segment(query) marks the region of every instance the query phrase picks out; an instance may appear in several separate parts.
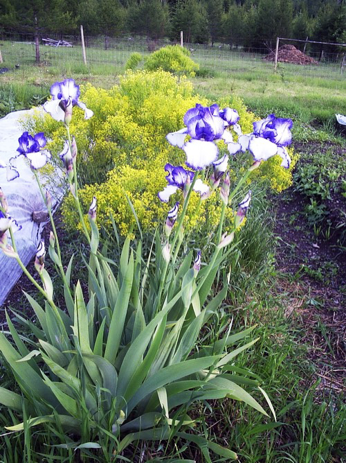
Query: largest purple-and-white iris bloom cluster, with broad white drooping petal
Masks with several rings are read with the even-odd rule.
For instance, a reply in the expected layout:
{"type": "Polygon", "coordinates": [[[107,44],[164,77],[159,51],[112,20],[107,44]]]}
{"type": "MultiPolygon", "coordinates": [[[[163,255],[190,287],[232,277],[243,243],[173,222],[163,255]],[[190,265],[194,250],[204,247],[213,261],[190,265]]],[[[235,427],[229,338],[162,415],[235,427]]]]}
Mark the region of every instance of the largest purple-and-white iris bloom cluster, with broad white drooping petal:
{"type": "MultiPolygon", "coordinates": [[[[225,130],[235,124],[239,115],[235,110],[224,108],[220,112],[218,105],[202,106],[197,103],[185,113],[185,128],[167,134],[167,141],[185,151],[186,165],[201,170],[216,161],[219,150],[215,140],[223,139],[227,145],[233,143],[232,134],[225,130]],[[191,139],[185,142],[186,135],[191,139]]],[[[238,147],[239,150],[239,147],[238,147]]]]}

